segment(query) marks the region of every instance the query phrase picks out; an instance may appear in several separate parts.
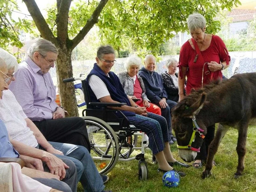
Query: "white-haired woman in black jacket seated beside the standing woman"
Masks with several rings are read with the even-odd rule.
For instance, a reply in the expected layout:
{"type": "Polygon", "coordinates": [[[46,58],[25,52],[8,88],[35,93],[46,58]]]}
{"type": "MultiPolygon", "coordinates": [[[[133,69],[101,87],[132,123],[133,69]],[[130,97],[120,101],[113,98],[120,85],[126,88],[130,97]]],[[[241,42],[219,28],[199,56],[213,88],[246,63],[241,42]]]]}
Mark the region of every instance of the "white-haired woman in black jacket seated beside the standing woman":
{"type": "MultiPolygon", "coordinates": [[[[179,101],[178,73],[176,73],[178,61],[175,57],[171,57],[165,61],[167,71],[161,74],[163,79],[163,87],[165,88],[168,99],[179,101]]],[[[185,83],[186,84],[186,83],[185,83]]],[[[184,85],[186,87],[186,85],[184,85]]],[[[185,94],[185,89],[184,89],[185,94]]]]}

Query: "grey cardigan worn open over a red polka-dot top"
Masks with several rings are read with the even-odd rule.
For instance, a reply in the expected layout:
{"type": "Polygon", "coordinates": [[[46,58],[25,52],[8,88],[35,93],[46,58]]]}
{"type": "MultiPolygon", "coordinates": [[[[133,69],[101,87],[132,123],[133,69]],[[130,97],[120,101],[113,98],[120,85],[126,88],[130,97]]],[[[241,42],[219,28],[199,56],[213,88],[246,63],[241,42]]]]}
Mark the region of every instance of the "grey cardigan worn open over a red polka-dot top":
{"type": "MultiPolygon", "coordinates": [[[[123,85],[125,94],[129,96],[133,96],[133,79],[128,75],[126,71],[118,73],[117,76],[119,77],[120,82],[123,85]]],[[[146,95],[146,88],[143,83],[143,80],[139,75],[137,75],[137,77],[140,82],[140,86],[142,88],[141,98],[142,100],[148,100],[148,97],[146,95]]]]}

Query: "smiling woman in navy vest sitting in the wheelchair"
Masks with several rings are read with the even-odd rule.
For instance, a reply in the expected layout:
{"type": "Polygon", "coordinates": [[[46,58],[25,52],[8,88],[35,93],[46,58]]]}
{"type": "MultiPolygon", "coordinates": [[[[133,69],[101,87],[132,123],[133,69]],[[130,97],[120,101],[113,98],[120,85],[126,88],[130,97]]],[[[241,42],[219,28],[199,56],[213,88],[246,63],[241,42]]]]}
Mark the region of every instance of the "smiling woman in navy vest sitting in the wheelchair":
{"type": "MultiPolygon", "coordinates": [[[[179,162],[171,154],[167,123],[164,117],[147,112],[145,107],[137,106],[129,99],[119,78],[111,68],[115,63],[115,51],[107,46],[100,46],[97,50],[96,63],[87,76],[89,95],[92,102],[126,103],[122,107],[112,107],[121,110],[130,124],[135,125],[149,137],[149,148],[156,157],[158,171],[173,170],[173,165],[179,162]]],[[[185,173],[177,171],[180,176],[185,173]]]]}

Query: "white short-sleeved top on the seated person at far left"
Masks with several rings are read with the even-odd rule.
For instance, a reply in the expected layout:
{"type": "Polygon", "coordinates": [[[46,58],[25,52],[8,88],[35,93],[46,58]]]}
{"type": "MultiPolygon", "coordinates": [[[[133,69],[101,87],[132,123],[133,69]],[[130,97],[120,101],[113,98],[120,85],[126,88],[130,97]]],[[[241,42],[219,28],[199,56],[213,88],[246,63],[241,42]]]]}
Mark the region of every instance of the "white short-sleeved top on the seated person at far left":
{"type": "Polygon", "coordinates": [[[10,137],[30,147],[37,147],[38,143],[33,131],[27,127],[27,116],[10,90],[4,90],[0,99],[0,119],[4,122],[10,137]]]}

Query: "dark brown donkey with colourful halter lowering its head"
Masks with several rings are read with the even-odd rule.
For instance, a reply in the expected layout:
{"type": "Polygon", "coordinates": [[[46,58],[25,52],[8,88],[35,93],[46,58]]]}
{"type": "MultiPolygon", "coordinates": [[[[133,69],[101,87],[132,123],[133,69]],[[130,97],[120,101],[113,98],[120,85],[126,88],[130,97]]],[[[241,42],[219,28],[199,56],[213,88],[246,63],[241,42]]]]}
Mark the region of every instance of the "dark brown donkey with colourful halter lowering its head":
{"type": "Polygon", "coordinates": [[[195,159],[207,134],[206,127],[219,123],[208,147],[202,178],[211,175],[214,155],[230,127],[238,129],[238,166],[234,178],[242,175],[247,129],[249,123],[255,123],[253,118],[256,117],[255,83],[256,73],[236,74],[223,82],[216,81],[193,90],[172,109],[172,128],[177,138],[179,156],[186,162],[195,159]]]}

